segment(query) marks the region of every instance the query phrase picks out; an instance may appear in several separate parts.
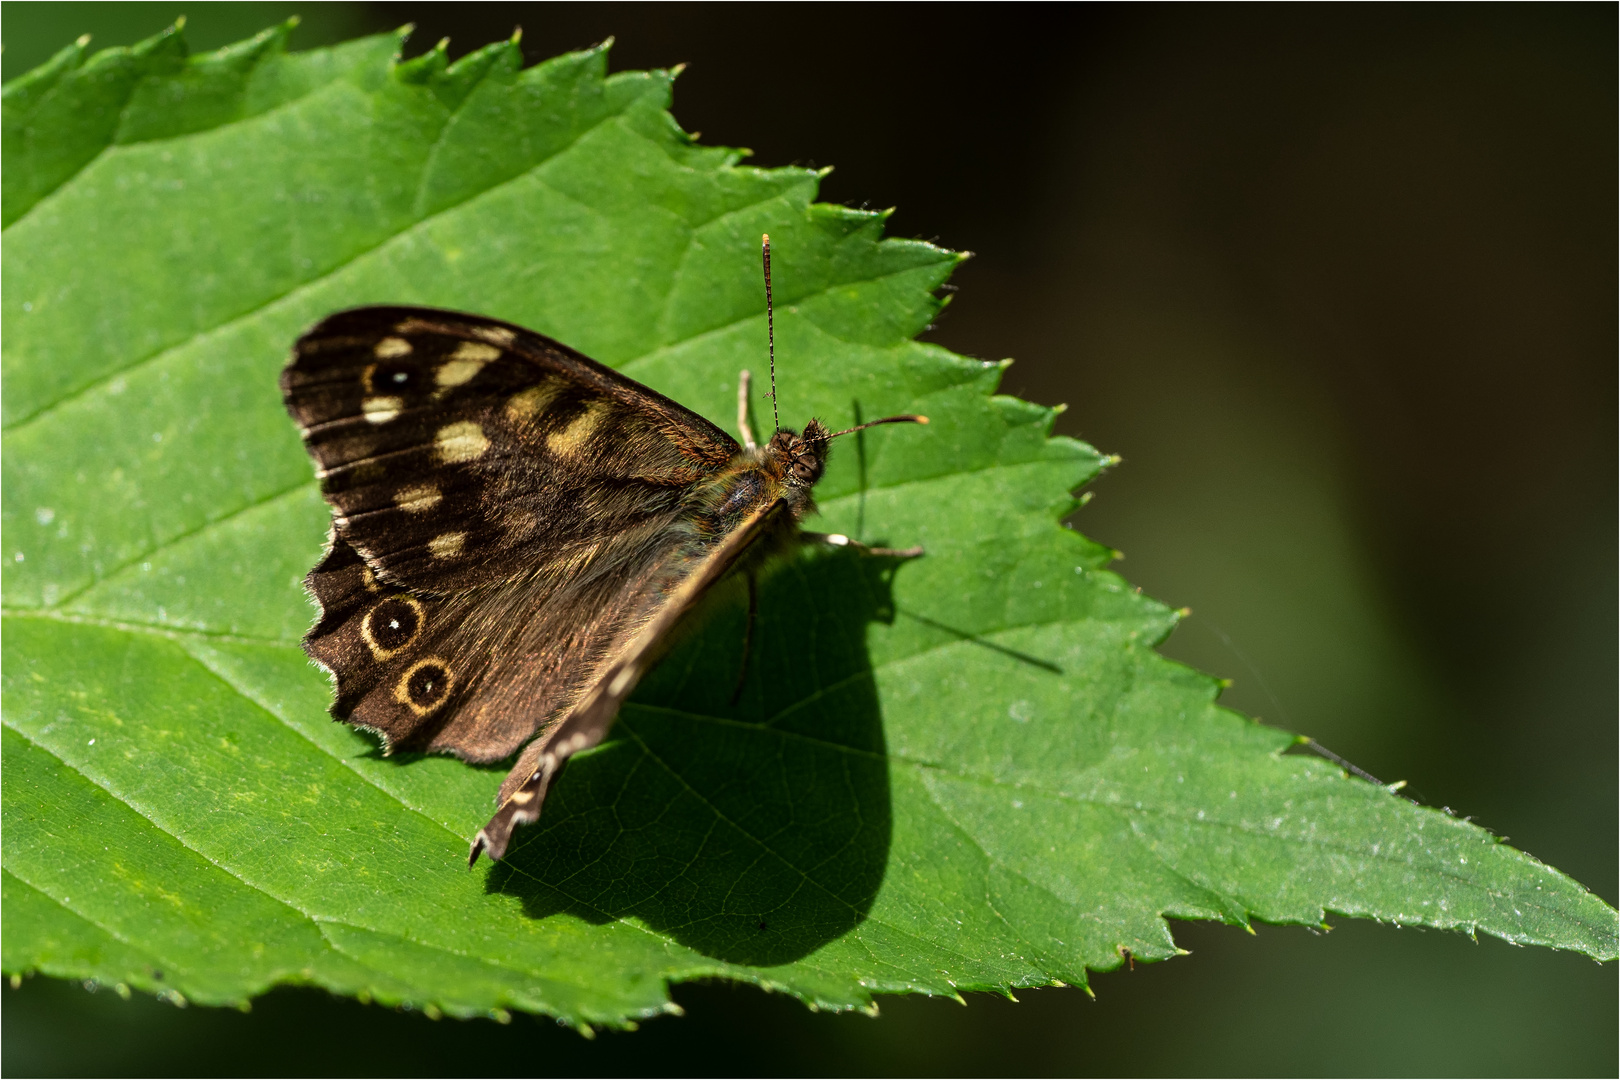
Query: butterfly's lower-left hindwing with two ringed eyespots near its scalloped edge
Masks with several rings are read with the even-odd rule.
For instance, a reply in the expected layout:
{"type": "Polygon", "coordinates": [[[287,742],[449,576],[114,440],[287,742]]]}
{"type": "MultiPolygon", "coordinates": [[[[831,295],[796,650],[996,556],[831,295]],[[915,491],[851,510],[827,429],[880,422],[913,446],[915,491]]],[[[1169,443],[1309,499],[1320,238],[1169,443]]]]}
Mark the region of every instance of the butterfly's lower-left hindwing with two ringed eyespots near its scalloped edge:
{"type": "Polygon", "coordinates": [[[309,575],[322,615],[305,649],[337,678],[334,716],[389,753],[499,761],[599,682],[698,562],[688,533],[648,531],[564,572],[433,596],[382,585],[337,539],[309,575]]]}

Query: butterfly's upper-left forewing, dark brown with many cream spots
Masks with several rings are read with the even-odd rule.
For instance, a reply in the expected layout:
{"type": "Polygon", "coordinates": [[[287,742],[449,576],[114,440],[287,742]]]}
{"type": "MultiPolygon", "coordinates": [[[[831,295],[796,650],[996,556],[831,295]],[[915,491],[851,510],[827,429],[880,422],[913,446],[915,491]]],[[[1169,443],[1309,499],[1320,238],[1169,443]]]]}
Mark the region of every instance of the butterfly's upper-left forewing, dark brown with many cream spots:
{"type": "Polygon", "coordinates": [[[356,308],[282,374],[339,539],[379,581],[454,593],[667,520],[739,445],[669,398],[494,319],[356,308]]]}

